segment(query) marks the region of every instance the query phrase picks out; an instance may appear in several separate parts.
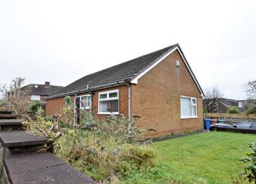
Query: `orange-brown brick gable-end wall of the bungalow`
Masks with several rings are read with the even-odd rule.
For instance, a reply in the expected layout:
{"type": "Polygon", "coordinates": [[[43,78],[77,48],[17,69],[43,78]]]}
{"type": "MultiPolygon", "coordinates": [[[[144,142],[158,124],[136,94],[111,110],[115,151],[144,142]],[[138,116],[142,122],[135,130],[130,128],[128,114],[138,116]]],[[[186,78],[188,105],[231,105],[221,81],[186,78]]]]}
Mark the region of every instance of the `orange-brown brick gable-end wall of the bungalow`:
{"type": "Polygon", "coordinates": [[[178,51],[132,84],[132,115],[140,128],[156,130],[146,136],[202,130],[202,97],[178,51]],[[197,97],[198,118],[181,119],[180,95],[197,97]]]}

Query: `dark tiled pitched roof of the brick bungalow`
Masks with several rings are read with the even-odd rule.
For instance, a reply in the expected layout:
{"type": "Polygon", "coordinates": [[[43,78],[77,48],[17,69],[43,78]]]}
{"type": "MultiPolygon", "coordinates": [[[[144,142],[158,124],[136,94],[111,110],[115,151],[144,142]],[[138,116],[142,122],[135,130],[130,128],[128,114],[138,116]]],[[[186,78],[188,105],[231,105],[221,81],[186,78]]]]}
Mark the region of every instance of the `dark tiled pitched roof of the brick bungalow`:
{"type": "MultiPolygon", "coordinates": [[[[153,53],[148,53],[144,56],[140,56],[130,61],[112,66],[108,69],[103,69],[93,74],[89,74],[67,85],[67,87],[60,89],[58,92],[49,96],[47,99],[72,95],[77,92],[86,92],[88,85],[90,90],[95,90],[101,89],[103,87],[111,87],[126,84],[127,82],[132,82],[133,79],[135,79],[137,76],[140,76],[140,74],[150,68],[150,66],[153,66],[154,63],[166,56],[167,53],[174,51],[175,48],[179,48],[179,44],[171,45],[153,53]]],[[[192,75],[194,76],[194,74],[192,75]]],[[[196,79],[195,82],[198,84],[196,79]]],[[[199,87],[200,92],[202,92],[199,84],[197,87],[199,87]]]]}

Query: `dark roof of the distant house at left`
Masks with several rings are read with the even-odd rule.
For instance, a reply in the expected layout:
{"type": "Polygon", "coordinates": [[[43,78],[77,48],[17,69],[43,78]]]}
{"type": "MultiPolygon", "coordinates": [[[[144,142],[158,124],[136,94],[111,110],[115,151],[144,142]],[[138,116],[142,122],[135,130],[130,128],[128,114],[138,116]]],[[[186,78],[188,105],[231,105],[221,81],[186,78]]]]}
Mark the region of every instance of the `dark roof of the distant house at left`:
{"type": "Polygon", "coordinates": [[[31,95],[51,95],[59,89],[62,89],[61,86],[54,86],[54,85],[45,85],[45,84],[28,84],[25,87],[22,87],[21,89],[31,89],[30,94],[31,95]]]}

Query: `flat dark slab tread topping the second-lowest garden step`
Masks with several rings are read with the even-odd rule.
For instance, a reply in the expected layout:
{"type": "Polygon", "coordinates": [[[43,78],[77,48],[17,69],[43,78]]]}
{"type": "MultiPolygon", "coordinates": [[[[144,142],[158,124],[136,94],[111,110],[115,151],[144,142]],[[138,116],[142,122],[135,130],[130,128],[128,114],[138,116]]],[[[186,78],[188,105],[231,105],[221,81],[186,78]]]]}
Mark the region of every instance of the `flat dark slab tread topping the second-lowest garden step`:
{"type": "Polygon", "coordinates": [[[1,142],[5,147],[33,146],[45,144],[47,139],[43,136],[34,136],[26,131],[1,131],[1,142]]]}

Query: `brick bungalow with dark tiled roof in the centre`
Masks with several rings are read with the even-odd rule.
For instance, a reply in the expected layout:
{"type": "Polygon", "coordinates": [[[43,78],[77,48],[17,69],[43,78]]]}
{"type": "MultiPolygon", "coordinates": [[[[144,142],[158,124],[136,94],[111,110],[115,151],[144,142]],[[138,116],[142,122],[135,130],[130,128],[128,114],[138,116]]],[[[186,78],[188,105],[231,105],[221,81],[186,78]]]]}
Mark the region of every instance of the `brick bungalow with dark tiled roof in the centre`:
{"type": "Polygon", "coordinates": [[[46,114],[59,113],[67,95],[99,118],[139,116],[151,137],[203,128],[204,94],[179,44],[78,79],[46,98],[46,114]]]}

